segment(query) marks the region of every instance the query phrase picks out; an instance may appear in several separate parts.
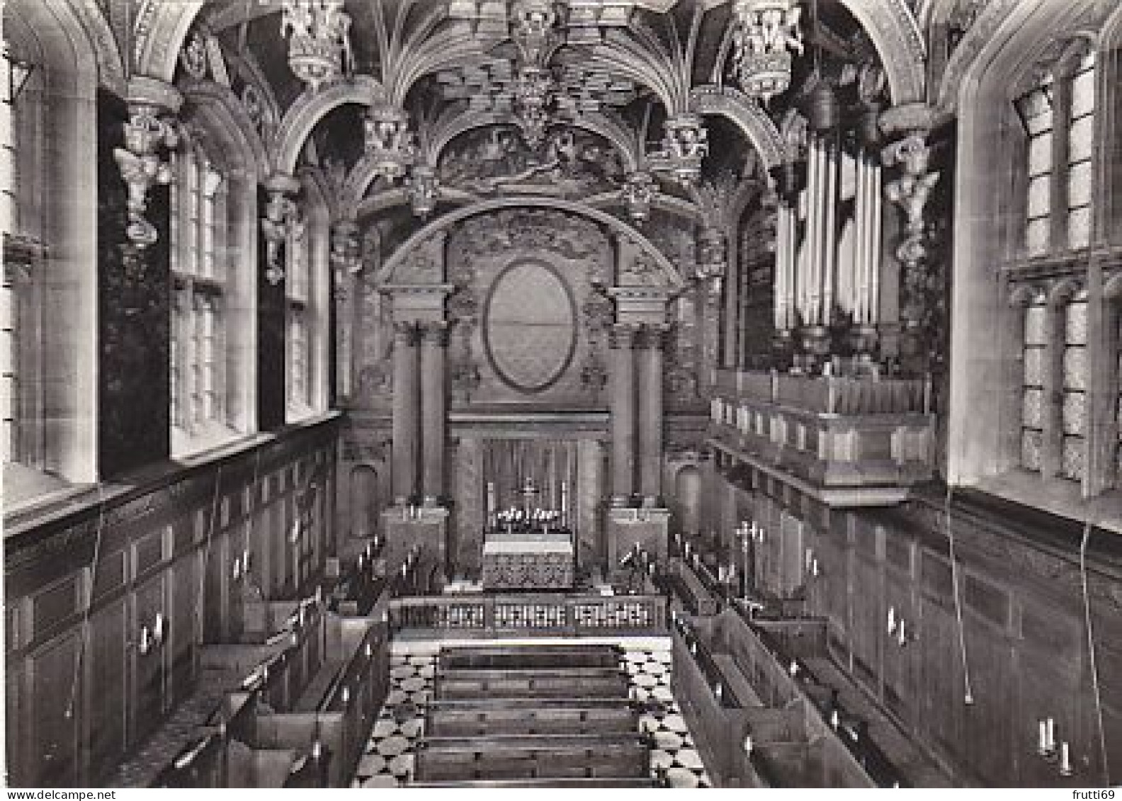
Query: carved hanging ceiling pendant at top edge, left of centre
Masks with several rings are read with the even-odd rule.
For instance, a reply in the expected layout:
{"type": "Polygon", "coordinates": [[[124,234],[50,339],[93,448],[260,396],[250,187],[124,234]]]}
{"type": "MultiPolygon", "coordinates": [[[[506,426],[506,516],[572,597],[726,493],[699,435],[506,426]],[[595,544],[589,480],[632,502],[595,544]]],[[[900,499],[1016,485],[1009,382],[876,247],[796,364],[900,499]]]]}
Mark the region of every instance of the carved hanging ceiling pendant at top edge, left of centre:
{"type": "Polygon", "coordinates": [[[288,36],[288,66],[313,91],[338,79],[351,62],[350,16],[342,0],[283,0],[280,35],[288,36]]]}

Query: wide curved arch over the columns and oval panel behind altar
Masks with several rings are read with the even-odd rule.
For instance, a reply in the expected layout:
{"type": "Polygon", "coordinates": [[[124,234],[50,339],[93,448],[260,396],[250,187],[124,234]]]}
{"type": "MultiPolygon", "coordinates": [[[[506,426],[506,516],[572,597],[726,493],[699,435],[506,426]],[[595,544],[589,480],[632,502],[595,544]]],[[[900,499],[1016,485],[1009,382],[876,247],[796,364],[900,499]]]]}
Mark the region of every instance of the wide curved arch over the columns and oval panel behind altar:
{"type": "Polygon", "coordinates": [[[557,200],[552,197],[497,197],[495,200],[476,203],[463,209],[457,209],[444,217],[433,220],[427,225],[415,231],[394,251],[394,255],[386,260],[376,276],[378,284],[423,284],[429,279],[417,282],[411,279],[408,275],[410,257],[421,252],[424,246],[433,239],[443,237],[450,228],[471,217],[478,217],[491,211],[502,209],[552,209],[564,211],[571,214],[583,217],[592,222],[599,223],[613,233],[623,239],[634,242],[636,249],[657,269],[662,286],[670,289],[680,289],[686,285],[674,265],[668,259],[651,241],[636,229],[597,209],[589,209],[572,201],[557,200]]]}

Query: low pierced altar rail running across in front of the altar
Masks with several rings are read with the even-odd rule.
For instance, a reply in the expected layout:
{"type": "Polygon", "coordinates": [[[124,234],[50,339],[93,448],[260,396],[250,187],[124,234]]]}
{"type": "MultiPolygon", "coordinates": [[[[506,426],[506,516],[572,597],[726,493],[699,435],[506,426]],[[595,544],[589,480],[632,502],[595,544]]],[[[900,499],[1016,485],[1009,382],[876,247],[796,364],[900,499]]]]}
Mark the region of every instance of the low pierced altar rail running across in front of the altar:
{"type": "Polygon", "coordinates": [[[662,596],[472,595],[389,601],[394,630],[436,629],[465,636],[598,636],[666,628],[662,596]]]}

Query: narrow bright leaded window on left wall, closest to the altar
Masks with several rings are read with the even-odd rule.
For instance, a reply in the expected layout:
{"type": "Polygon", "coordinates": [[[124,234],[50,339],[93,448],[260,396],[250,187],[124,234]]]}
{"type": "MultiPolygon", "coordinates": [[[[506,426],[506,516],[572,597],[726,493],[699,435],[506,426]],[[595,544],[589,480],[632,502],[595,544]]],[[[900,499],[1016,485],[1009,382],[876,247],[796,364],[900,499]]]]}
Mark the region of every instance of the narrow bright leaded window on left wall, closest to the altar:
{"type": "Polygon", "coordinates": [[[292,227],[288,236],[288,269],[285,285],[287,323],[287,402],[289,416],[312,408],[311,248],[307,222],[292,227]]]}

